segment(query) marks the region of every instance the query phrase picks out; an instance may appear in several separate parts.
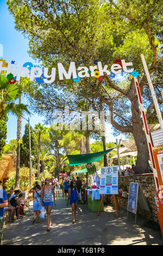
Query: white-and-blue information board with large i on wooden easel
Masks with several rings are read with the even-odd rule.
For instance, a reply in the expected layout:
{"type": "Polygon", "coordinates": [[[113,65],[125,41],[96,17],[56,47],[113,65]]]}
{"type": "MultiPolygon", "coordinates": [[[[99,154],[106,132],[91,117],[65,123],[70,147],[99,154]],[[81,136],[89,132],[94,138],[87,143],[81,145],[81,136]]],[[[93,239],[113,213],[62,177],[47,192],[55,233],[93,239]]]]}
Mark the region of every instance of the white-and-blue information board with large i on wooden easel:
{"type": "Polygon", "coordinates": [[[101,168],[100,194],[118,194],[118,166],[101,168]]]}

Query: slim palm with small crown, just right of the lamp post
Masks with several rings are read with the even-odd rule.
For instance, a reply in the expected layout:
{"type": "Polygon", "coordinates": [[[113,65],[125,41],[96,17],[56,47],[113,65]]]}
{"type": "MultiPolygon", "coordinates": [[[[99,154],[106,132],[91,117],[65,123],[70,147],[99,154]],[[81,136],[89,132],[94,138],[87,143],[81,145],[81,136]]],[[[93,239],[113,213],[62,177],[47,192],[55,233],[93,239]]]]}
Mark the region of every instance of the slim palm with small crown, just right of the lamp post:
{"type": "Polygon", "coordinates": [[[40,154],[41,154],[41,134],[43,132],[46,132],[47,129],[39,123],[39,124],[35,125],[34,130],[39,136],[39,143],[38,143],[39,153],[38,153],[38,156],[37,156],[37,179],[40,180],[40,166],[39,166],[39,164],[40,164],[40,154]]]}

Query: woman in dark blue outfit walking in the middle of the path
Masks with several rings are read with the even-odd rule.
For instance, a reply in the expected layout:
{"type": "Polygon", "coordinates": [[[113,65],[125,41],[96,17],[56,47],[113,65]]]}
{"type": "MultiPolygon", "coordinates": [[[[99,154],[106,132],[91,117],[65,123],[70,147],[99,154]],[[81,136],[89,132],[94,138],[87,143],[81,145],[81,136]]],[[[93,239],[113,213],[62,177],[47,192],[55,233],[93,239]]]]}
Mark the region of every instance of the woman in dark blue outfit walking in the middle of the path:
{"type": "Polygon", "coordinates": [[[78,207],[78,197],[80,198],[80,201],[82,202],[82,198],[79,195],[79,192],[76,188],[76,183],[74,181],[71,181],[70,188],[68,189],[68,199],[67,199],[67,206],[70,199],[70,205],[72,208],[72,223],[75,223],[77,221],[76,219],[76,211],[78,207]]]}

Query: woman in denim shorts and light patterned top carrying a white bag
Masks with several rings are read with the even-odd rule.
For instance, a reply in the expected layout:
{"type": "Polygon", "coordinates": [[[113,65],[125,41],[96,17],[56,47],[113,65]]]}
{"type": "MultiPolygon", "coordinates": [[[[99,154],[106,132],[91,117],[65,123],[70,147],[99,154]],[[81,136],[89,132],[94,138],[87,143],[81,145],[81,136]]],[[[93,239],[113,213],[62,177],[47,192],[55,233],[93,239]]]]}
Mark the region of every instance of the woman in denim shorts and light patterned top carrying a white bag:
{"type": "Polygon", "coordinates": [[[57,205],[55,202],[55,193],[54,186],[50,185],[50,179],[45,180],[45,186],[41,191],[41,205],[45,206],[47,212],[47,231],[51,230],[52,221],[51,221],[51,211],[53,205],[57,205]],[[53,197],[52,197],[53,196],[53,197]],[[54,203],[53,203],[54,199],[54,203]]]}

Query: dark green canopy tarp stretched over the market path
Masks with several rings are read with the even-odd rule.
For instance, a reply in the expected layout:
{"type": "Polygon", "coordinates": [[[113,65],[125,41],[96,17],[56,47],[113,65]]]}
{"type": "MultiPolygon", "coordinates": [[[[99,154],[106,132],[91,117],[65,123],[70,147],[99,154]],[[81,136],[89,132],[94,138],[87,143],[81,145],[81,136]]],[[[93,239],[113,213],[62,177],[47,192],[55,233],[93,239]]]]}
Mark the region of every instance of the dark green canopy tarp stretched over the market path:
{"type": "MultiPolygon", "coordinates": [[[[112,148],[114,149],[114,148],[112,148]]],[[[79,166],[79,164],[84,163],[93,163],[101,160],[104,155],[108,154],[112,149],[105,151],[92,153],[92,154],[83,154],[83,155],[67,155],[69,166],[79,166]]]]}

